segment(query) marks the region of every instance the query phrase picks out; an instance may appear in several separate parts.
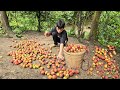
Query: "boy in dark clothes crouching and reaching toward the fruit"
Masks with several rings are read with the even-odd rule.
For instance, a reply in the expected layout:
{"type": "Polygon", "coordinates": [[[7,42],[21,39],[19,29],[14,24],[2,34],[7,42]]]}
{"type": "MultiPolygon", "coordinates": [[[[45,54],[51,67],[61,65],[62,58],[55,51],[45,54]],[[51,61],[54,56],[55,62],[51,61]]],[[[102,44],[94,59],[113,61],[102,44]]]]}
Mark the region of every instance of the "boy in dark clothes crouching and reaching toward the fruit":
{"type": "Polygon", "coordinates": [[[64,30],[65,22],[63,20],[59,20],[56,23],[56,27],[54,27],[50,32],[45,32],[45,36],[52,35],[54,44],[52,47],[60,46],[60,51],[58,53],[57,58],[64,59],[63,57],[63,47],[66,46],[68,37],[67,32],[64,30]]]}

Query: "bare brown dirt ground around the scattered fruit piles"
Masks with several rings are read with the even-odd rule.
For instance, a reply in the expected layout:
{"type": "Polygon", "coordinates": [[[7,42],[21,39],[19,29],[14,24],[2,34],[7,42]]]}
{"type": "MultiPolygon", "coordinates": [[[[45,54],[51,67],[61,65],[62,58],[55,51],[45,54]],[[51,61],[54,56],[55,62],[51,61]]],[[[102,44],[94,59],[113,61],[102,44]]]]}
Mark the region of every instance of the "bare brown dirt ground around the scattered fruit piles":
{"type": "MultiPolygon", "coordinates": [[[[38,32],[26,32],[23,34],[23,38],[28,38],[28,39],[35,39],[39,43],[45,43],[46,46],[48,47],[47,44],[52,44],[53,40],[52,37],[44,37],[43,33],[38,33],[38,32]]],[[[68,37],[69,41],[68,43],[79,43],[76,38],[68,37]]],[[[14,50],[13,47],[10,47],[11,45],[15,45],[16,42],[13,42],[13,40],[16,40],[19,42],[21,39],[20,38],[2,38],[0,37],[0,79],[47,79],[45,75],[41,75],[39,72],[39,69],[29,69],[29,68],[22,68],[19,65],[13,65],[10,63],[10,60],[12,59],[11,56],[7,56],[7,53],[9,51],[14,50]]],[[[91,42],[83,42],[83,44],[87,45],[90,49],[90,52],[88,55],[85,55],[85,62],[83,63],[83,68],[87,69],[88,61],[89,64],[91,65],[92,63],[92,56],[93,56],[93,50],[94,50],[94,45],[91,42]]],[[[57,54],[57,49],[53,48],[52,53],[57,54]]],[[[117,63],[120,65],[120,54],[117,53],[115,60],[117,63]]],[[[95,73],[93,73],[92,76],[87,75],[87,72],[80,69],[80,74],[79,75],[74,75],[73,77],[70,77],[70,79],[100,79],[99,76],[97,76],[95,73]]]]}

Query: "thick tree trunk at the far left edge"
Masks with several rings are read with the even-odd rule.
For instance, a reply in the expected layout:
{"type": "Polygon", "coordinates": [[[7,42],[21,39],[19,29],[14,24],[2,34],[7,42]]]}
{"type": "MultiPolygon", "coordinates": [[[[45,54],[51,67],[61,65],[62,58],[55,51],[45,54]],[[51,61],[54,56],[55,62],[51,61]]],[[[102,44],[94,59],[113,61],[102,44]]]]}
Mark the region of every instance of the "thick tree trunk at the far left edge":
{"type": "Polygon", "coordinates": [[[6,11],[0,11],[0,15],[1,15],[0,19],[1,19],[3,30],[5,31],[7,36],[12,37],[13,32],[11,31],[11,28],[9,26],[9,21],[8,21],[6,11]]]}

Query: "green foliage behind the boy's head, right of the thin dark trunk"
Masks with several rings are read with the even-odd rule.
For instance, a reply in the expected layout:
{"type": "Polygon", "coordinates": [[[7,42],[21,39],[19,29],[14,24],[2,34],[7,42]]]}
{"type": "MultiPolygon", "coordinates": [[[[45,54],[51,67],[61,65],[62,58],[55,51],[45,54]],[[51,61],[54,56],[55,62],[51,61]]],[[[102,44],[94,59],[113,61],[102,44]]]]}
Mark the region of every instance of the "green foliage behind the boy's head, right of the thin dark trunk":
{"type": "Polygon", "coordinates": [[[59,19],[63,19],[65,23],[73,22],[74,11],[50,11],[46,20],[41,22],[42,31],[49,31],[56,25],[59,19]]]}

